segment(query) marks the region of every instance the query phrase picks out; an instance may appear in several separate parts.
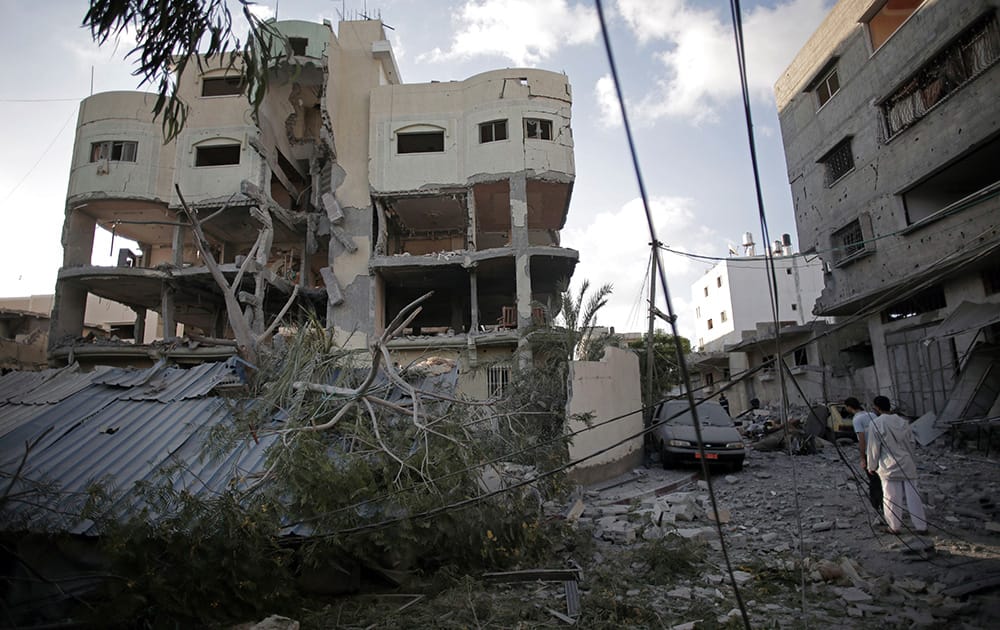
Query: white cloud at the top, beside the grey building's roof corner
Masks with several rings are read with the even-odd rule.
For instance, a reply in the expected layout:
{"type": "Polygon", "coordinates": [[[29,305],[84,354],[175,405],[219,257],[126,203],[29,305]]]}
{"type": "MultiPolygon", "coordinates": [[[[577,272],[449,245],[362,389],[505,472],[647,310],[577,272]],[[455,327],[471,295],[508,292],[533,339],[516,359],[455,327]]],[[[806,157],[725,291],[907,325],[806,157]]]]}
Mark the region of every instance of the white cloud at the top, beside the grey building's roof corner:
{"type": "MultiPolygon", "coordinates": [[[[771,100],[781,72],[828,11],[829,0],[779,0],[744,12],[747,84],[755,98],[771,100]]],[[[689,0],[619,0],[619,11],[642,43],[665,45],[654,53],[663,76],[638,104],[638,117],[684,116],[711,120],[715,107],[740,94],[731,19],[691,6],[689,0]]]]}

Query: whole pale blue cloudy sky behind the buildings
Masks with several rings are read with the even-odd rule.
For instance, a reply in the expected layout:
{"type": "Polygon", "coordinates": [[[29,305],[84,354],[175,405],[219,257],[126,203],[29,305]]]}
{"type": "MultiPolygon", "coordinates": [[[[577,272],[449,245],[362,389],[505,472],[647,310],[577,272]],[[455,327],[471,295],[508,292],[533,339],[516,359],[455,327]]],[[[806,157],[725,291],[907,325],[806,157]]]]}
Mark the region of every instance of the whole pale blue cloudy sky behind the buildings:
{"type": "MultiPolygon", "coordinates": [[[[261,14],[380,14],[404,82],[464,79],[502,67],[565,72],[573,86],[576,183],[562,243],[580,251],[574,285],[612,282],[601,324],[644,330],[649,235],[592,2],[574,0],[265,0],[261,14]]],[[[743,2],[752,106],[772,238],[795,238],[772,87],[831,0],[743,2]]],[[[85,0],[0,0],[0,297],[51,293],[62,258],[79,99],[132,90],[130,48],[98,48],[79,25],[85,0]]],[[[725,256],[744,232],[762,242],[725,0],[605,0],[659,239],[725,256]]],[[[95,246],[99,252],[110,239],[95,246]]],[[[761,251],[760,247],[758,251],[761,251]]],[[[109,257],[110,260],[110,257],[109,257]]],[[[709,267],[664,254],[681,334],[691,283],[709,267]]],[[[96,261],[95,261],[96,262],[96,261]]],[[[103,263],[109,264],[109,263],[103,263]]],[[[660,301],[662,308],[662,298],[660,301]]]]}

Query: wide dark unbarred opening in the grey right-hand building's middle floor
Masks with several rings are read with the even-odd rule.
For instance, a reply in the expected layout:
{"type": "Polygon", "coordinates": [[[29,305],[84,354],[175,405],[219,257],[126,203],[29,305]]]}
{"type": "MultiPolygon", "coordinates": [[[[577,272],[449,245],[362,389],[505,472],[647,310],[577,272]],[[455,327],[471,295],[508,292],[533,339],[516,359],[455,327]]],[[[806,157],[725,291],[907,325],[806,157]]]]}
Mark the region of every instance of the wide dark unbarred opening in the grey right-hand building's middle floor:
{"type": "Polygon", "coordinates": [[[907,225],[946,216],[995,194],[1000,186],[1000,138],[952,162],[902,193],[907,225]]]}

